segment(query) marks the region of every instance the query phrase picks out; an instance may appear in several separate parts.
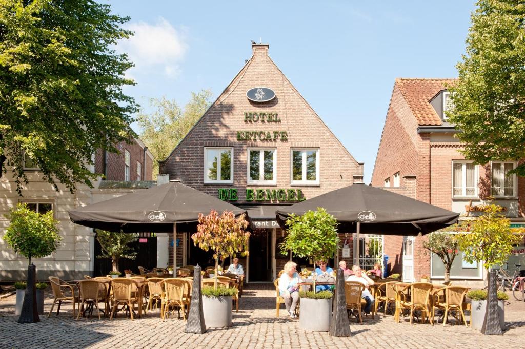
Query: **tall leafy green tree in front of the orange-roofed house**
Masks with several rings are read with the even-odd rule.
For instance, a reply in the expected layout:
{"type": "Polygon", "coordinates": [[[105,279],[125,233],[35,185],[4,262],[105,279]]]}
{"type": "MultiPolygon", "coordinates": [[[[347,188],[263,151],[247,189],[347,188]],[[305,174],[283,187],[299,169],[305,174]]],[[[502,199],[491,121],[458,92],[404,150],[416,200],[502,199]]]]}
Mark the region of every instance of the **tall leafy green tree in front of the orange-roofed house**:
{"type": "MultiPolygon", "coordinates": [[[[449,87],[450,122],[462,132],[463,154],[477,164],[525,157],[525,4],[480,0],[471,16],[466,53],[449,87]]],[[[515,173],[525,175],[525,164],[515,173]]]]}

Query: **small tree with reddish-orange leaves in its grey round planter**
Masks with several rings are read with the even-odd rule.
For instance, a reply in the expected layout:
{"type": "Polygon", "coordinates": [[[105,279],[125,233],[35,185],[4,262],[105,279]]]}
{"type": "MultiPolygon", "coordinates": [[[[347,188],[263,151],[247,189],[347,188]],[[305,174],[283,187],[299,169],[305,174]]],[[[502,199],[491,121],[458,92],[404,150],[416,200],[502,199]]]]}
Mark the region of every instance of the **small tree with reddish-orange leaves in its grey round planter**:
{"type": "Polygon", "coordinates": [[[212,210],[209,215],[199,214],[197,232],[192,235],[195,246],[205,251],[212,250],[215,259],[214,287],[202,290],[202,307],[206,327],[229,327],[232,325],[232,295],[235,288],[217,288],[219,259],[248,254],[250,233],[244,231],[248,222],[244,214],[235,218],[233,212],[224,211],[222,215],[212,210]]]}

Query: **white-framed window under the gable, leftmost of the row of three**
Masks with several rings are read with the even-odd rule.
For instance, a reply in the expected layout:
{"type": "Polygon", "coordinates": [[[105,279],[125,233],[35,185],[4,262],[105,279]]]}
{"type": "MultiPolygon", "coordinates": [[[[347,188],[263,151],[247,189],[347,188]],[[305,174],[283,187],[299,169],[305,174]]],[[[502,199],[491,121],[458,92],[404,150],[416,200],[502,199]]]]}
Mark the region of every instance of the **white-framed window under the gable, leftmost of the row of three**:
{"type": "Polygon", "coordinates": [[[204,148],[204,183],[233,183],[233,148],[204,148]]]}

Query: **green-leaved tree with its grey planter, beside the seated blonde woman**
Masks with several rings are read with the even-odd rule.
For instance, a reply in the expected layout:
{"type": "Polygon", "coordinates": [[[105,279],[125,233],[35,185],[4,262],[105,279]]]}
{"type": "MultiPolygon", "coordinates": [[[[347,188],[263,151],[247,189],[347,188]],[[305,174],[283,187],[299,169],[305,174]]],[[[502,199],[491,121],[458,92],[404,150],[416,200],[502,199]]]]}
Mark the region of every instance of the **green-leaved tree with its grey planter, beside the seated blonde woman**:
{"type": "MultiPolygon", "coordinates": [[[[281,253],[291,250],[298,257],[314,261],[331,258],[339,243],[337,220],[319,207],[302,216],[292,214],[286,221],[288,235],[281,244],[281,253]]],[[[301,292],[299,326],[307,331],[329,331],[332,314],[331,292],[316,292],[316,272],[313,272],[313,291],[301,292]],[[321,294],[322,293],[322,294],[321,294]]]]}

